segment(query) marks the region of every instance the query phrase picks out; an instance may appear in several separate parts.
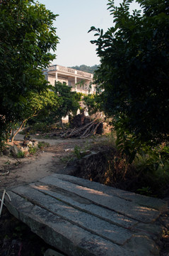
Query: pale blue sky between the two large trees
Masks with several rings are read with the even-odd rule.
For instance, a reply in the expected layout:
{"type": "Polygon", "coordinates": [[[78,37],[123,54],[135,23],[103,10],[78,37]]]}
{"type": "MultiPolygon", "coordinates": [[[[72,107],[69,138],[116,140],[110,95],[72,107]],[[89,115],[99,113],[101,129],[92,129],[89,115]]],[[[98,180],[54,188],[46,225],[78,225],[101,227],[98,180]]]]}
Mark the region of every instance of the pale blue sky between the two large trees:
{"type": "MultiPolygon", "coordinates": [[[[59,14],[54,27],[57,28],[59,44],[55,54],[57,58],[52,64],[72,67],[76,65],[98,65],[100,58],[96,46],[91,40],[96,39],[94,32],[88,33],[91,26],[107,31],[113,24],[108,0],[38,0],[54,14],[59,14]]],[[[115,4],[122,2],[116,0],[115,4]]],[[[133,9],[135,9],[134,6],[133,9]]]]}

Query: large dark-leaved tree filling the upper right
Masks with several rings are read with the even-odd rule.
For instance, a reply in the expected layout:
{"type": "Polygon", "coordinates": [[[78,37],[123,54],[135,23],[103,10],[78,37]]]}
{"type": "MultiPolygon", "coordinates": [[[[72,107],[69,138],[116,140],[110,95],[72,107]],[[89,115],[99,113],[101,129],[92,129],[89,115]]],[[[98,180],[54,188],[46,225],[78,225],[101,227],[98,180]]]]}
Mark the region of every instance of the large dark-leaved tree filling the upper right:
{"type": "Polygon", "coordinates": [[[137,0],[141,11],[129,12],[132,0],[119,7],[109,0],[114,26],[95,27],[100,56],[96,82],[102,84],[105,112],[121,136],[127,131],[140,142],[168,141],[169,2],[137,0]]]}

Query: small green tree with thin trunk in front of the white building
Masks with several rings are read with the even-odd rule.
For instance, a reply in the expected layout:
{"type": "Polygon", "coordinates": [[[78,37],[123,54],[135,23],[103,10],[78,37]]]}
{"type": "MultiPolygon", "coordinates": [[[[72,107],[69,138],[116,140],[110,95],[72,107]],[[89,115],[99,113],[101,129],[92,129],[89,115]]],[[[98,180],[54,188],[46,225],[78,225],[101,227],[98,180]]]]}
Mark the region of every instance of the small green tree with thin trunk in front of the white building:
{"type": "Polygon", "coordinates": [[[71,87],[64,82],[55,82],[54,92],[59,97],[59,107],[54,112],[56,117],[59,117],[62,129],[62,117],[66,117],[69,114],[76,114],[79,109],[79,103],[81,100],[81,93],[72,92],[71,87]]]}

